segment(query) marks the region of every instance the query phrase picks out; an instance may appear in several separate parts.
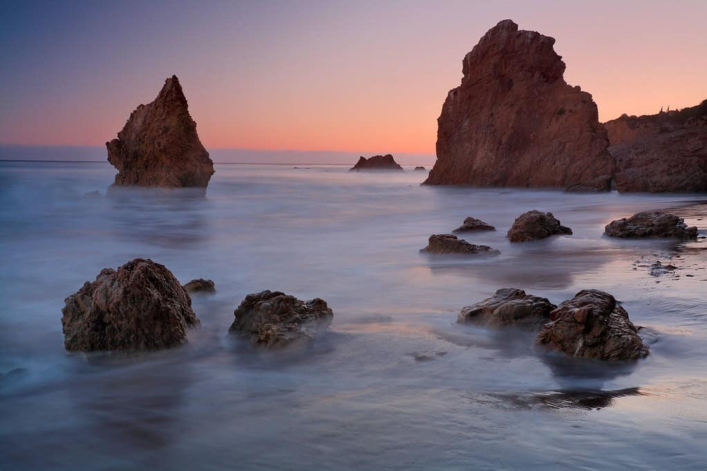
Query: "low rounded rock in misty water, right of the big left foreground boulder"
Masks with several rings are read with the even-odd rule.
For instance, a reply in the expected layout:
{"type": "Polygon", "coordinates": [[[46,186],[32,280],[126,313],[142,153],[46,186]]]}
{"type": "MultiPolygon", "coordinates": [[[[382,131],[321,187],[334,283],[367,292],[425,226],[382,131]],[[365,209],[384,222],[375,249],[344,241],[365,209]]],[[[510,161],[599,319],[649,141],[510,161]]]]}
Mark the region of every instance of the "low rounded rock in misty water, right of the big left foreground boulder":
{"type": "Polygon", "coordinates": [[[279,291],[248,294],[233,312],[228,329],[266,347],[310,342],[327,330],[334,312],[323,299],[300,301],[279,291]]]}

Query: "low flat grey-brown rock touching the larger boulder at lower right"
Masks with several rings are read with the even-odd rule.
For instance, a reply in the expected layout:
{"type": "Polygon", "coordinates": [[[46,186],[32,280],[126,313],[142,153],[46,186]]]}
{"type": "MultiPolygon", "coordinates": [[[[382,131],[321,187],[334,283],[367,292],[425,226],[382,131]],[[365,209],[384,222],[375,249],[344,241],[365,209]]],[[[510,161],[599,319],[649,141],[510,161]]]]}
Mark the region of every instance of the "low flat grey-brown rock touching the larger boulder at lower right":
{"type": "Polygon", "coordinates": [[[550,320],[550,312],[556,308],[545,298],[516,288],[501,288],[492,297],[463,307],[457,322],[489,327],[540,328],[550,320]]]}

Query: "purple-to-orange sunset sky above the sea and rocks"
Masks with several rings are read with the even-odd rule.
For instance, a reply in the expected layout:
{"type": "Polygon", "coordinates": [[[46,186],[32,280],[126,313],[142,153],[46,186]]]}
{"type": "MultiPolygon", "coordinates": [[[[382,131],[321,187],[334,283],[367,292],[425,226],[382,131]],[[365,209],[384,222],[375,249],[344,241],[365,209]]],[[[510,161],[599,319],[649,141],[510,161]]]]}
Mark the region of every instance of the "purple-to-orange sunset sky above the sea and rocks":
{"type": "Polygon", "coordinates": [[[707,98],[707,1],[5,0],[0,145],[103,145],[175,74],[209,150],[432,154],[506,18],[556,38],[602,121],[707,98]]]}

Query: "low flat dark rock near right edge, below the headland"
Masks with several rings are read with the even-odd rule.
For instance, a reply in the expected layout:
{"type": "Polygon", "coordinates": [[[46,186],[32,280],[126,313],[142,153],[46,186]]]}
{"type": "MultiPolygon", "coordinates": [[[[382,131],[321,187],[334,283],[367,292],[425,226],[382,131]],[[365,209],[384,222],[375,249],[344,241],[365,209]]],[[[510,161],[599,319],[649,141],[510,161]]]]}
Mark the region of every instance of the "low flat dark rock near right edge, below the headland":
{"type": "Polygon", "coordinates": [[[697,227],[687,227],[682,217],[663,211],[644,211],[609,222],[604,232],[609,237],[697,237],[697,227]]]}

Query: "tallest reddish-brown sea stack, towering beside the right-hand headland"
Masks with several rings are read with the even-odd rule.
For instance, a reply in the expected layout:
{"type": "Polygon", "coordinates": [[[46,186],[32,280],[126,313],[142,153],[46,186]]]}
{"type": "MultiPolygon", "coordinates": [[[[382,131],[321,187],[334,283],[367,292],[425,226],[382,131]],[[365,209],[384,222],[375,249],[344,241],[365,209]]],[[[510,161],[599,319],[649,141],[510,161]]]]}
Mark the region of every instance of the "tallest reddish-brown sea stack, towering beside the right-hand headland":
{"type": "Polygon", "coordinates": [[[426,184],[609,189],[597,105],[563,80],[554,42],[511,20],[486,32],[442,107],[426,184]]]}

